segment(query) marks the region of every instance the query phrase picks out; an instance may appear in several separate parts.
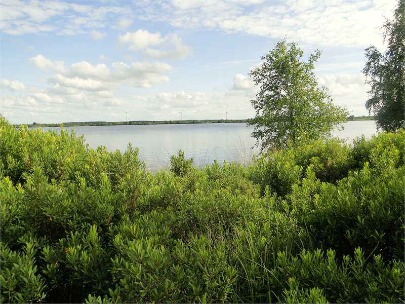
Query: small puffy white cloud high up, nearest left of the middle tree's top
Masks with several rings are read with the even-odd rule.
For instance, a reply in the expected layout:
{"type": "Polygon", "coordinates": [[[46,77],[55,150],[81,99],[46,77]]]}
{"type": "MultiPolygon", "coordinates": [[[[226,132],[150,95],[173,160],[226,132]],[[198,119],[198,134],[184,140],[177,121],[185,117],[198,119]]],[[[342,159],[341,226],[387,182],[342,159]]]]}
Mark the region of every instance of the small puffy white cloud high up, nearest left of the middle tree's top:
{"type": "Polygon", "coordinates": [[[139,29],[136,32],[127,32],[124,35],[118,35],[120,45],[130,44],[128,47],[131,51],[139,51],[145,49],[145,54],[156,58],[182,59],[193,54],[193,49],[190,46],[184,45],[181,38],[176,34],[168,34],[162,37],[159,32],[150,33],[147,30],[139,29]],[[171,50],[157,50],[148,48],[149,46],[163,46],[171,50]]]}

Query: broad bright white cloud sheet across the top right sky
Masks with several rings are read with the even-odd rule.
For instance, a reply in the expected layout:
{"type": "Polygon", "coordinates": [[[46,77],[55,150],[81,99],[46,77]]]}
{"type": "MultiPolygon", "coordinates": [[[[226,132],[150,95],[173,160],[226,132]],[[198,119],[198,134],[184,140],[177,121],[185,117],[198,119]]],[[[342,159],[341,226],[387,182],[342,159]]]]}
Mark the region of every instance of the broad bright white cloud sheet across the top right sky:
{"type": "Polygon", "coordinates": [[[143,17],[181,28],[205,27],[289,39],[326,47],[382,46],[381,24],[396,1],[288,1],[246,3],[174,1],[167,14],[144,7],[143,17]],[[372,20],[372,21],[371,21],[372,20]]]}

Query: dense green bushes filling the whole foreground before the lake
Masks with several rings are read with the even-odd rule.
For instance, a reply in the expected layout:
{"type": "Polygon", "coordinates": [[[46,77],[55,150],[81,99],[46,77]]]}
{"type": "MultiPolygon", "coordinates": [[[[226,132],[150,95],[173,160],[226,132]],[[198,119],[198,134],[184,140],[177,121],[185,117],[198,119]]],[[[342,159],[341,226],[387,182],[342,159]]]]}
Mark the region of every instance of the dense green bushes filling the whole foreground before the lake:
{"type": "Polygon", "coordinates": [[[145,172],[1,118],[1,302],[403,302],[404,132],[145,172]]]}

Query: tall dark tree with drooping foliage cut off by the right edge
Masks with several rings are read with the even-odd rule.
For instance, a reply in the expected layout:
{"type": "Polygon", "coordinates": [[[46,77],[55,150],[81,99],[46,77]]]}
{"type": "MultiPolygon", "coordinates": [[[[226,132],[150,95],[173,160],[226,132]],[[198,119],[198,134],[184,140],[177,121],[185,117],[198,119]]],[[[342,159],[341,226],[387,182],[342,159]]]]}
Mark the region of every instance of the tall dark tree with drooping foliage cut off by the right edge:
{"type": "Polygon", "coordinates": [[[393,20],[386,20],[384,42],[388,48],[381,54],[375,46],[366,49],[367,62],[363,68],[367,83],[371,85],[369,112],[374,112],[377,128],[393,132],[404,127],[405,90],[405,1],[399,0],[393,20]]]}

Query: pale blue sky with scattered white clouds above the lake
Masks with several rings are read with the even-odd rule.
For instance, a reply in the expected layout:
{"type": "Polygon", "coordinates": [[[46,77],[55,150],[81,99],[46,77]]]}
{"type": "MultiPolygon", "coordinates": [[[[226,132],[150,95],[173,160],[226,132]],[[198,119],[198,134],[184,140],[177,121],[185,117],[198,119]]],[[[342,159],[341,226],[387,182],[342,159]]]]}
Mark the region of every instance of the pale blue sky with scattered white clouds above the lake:
{"type": "Polygon", "coordinates": [[[368,115],[361,70],[384,1],[0,1],[0,113],[13,124],[248,119],[249,72],[287,38],[319,86],[368,115]],[[182,112],[180,114],[179,112],[182,112]]]}

